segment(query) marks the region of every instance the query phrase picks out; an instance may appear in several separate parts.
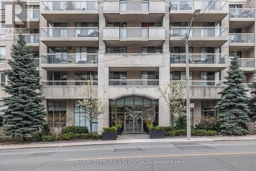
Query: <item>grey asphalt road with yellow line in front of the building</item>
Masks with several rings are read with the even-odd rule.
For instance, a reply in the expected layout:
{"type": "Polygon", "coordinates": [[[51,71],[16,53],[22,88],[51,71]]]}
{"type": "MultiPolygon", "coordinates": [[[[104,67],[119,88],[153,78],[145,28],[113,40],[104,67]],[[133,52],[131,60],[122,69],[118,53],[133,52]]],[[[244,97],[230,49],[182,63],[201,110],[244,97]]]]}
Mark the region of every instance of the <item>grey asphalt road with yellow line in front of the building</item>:
{"type": "Polygon", "coordinates": [[[256,170],[256,141],[1,150],[0,170],[256,170]]]}

